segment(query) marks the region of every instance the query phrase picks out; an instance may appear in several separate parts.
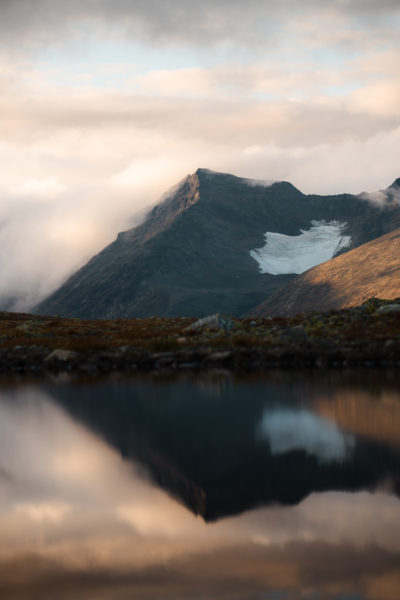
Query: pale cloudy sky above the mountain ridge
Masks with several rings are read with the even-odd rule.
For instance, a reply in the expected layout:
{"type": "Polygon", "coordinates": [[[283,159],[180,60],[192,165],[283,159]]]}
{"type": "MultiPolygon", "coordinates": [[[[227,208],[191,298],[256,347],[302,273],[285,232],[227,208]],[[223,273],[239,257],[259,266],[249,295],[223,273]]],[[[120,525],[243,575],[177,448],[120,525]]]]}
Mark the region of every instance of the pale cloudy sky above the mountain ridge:
{"type": "Polygon", "coordinates": [[[198,167],[400,176],[398,0],[1,0],[0,306],[27,309],[198,167]]]}

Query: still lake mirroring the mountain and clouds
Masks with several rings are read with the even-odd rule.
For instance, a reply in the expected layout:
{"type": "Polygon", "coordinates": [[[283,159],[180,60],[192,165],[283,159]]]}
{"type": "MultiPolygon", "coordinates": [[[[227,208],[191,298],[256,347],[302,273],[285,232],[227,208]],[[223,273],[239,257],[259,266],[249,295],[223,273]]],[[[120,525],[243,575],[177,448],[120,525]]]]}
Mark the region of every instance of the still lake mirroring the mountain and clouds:
{"type": "Polygon", "coordinates": [[[3,381],[0,598],[398,600],[400,374],[3,381]]]}

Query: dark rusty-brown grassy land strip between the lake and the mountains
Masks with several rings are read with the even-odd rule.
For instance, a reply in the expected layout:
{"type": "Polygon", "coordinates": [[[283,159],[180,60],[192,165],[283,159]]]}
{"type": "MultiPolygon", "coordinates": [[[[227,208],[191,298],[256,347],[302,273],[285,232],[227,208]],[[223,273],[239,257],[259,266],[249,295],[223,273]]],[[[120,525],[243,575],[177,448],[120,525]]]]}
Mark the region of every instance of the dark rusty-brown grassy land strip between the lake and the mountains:
{"type": "Polygon", "coordinates": [[[80,320],[0,313],[0,370],[168,371],[400,365],[400,299],[291,318],[80,320]]]}

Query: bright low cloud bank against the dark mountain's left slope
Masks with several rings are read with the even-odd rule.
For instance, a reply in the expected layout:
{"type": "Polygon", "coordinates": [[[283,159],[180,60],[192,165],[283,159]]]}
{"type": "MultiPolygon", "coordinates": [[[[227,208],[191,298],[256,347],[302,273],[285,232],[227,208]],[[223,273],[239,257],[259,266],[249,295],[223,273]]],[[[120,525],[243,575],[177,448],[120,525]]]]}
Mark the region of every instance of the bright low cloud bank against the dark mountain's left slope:
{"type": "Polygon", "coordinates": [[[9,199],[12,205],[7,207],[3,196],[0,211],[0,305],[7,310],[35,305],[110,243],[117,231],[132,226],[138,211],[126,194],[111,187],[75,187],[61,202],[51,199],[51,205],[47,196],[9,199]],[[77,193],[85,202],[74,210],[77,193]],[[113,210],[113,202],[118,211],[113,210]]]}

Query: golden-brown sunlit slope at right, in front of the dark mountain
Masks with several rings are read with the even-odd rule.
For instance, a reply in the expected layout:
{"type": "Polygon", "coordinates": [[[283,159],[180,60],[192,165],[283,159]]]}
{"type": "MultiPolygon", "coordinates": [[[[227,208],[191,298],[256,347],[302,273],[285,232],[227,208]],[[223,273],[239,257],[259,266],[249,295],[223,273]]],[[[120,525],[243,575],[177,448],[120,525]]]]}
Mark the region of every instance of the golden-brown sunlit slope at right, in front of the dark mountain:
{"type": "Polygon", "coordinates": [[[292,316],[400,297],[400,229],[332,258],[272,294],[249,316],[292,316]]]}

